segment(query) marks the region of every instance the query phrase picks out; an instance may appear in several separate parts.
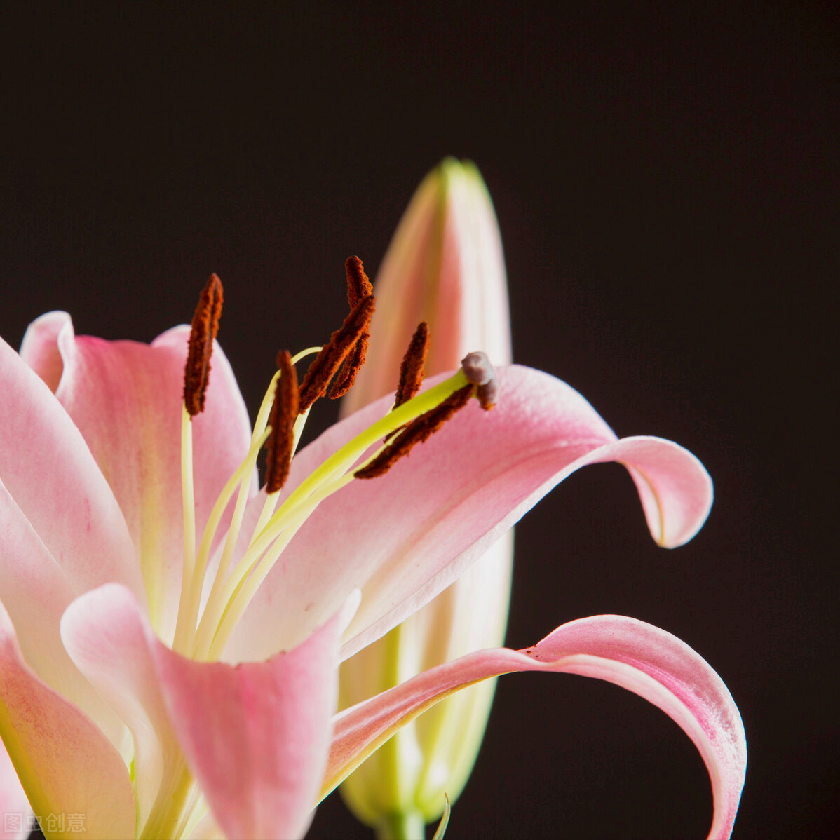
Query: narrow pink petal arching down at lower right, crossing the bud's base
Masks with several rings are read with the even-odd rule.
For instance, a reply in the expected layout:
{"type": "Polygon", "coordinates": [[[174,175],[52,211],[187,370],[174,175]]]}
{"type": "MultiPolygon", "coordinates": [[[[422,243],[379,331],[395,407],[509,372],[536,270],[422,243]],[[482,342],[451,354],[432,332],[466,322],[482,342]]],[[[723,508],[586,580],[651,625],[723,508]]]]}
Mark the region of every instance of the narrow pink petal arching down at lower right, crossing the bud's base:
{"type": "Polygon", "coordinates": [[[662,709],[694,742],[709,771],[714,796],[710,840],[729,837],[747,767],[738,707],[721,678],[687,644],[623,616],[569,622],[527,650],[469,654],[342,712],[336,718],[324,793],[429,706],[477,680],[528,670],[596,677],[662,709]]]}

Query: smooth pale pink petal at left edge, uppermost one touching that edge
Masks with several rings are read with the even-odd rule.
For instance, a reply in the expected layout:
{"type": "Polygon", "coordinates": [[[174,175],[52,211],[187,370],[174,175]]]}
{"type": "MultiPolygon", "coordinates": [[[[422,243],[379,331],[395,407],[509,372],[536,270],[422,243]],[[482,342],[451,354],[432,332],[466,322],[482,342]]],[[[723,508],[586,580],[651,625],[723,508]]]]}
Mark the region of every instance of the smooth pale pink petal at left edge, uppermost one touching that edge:
{"type": "Polygon", "coordinates": [[[67,412],[2,339],[0,393],[0,480],[20,514],[76,591],[118,580],[142,596],[113,491],[67,412]]]}

